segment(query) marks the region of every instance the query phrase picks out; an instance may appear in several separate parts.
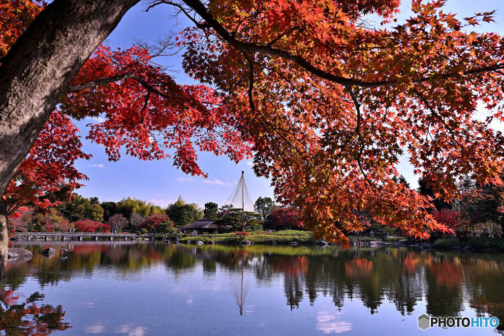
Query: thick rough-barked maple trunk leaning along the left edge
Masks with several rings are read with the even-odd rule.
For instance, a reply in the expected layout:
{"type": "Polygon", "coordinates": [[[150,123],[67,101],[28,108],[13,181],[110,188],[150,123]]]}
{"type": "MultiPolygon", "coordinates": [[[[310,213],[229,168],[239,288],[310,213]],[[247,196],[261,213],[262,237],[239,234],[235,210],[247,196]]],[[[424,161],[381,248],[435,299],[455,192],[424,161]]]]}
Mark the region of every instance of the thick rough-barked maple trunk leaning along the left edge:
{"type": "MultiPolygon", "coordinates": [[[[139,0],[55,0],[0,66],[0,195],[29,153],[59,97],[94,49],[139,0]]],[[[0,205],[0,277],[7,218],[0,205]]],[[[0,279],[2,279],[0,278],[0,279]]]]}

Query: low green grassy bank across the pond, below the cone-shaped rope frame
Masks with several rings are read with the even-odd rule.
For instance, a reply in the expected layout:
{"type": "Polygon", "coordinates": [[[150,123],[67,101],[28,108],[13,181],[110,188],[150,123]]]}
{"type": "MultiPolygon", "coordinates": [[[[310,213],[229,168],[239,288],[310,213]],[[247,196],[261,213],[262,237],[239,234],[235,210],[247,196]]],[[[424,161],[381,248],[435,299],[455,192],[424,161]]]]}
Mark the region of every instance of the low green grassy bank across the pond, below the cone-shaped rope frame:
{"type": "Polygon", "coordinates": [[[235,233],[204,234],[198,237],[185,237],[184,235],[177,234],[168,236],[168,239],[173,240],[175,239],[175,237],[179,237],[181,243],[186,243],[187,241],[189,241],[191,244],[195,244],[198,241],[208,243],[210,240],[213,240],[216,244],[244,244],[246,240],[254,244],[272,244],[273,242],[276,242],[277,244],[289,244],[290,242],[296,242],[298,244],[316,243],[316,240],[313,239],[311,232],[307,231],[257,231],[247,232],[247,234],[248,235],[235,233]]]}

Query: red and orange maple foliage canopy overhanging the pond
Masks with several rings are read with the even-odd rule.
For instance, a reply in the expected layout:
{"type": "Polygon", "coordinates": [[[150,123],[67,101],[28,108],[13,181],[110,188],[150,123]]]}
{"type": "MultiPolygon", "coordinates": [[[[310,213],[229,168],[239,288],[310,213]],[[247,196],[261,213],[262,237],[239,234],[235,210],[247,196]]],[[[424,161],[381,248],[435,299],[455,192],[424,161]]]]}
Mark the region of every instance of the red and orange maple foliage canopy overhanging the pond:
{"type": "MultiPolygon", "coordinates": [[[[399,1],[148,3],[193,20],[177,43],[184,71],[202,85],[176,84],[139,46],[100,45],[51,119],[103,118],[88,138],[111,160],[120,149],[144,160],[171,155],[183,172],[205,176],[198,151],[233,161],[254,156],[277,200],[300,209],[316,236],[343,245],[344,229],[363,229],[356,215],[363,210],[422,238],[448,229],[428,213],[428,197],[393,180],[402,156],[446,199],[461,195],[465,175],[501,182],[504,138],[490,122],[504,118],[504,41],[470,31],[493,21],[492,12],[462,20],[443,11],[444,1],[413,0],[409,20],[375,29],[364,16],[393,22],[399,1]],[[478,103],[491,113],[484,121],[474,117],[478,103]]],[[[75,135],[71,124],[66,129],[75,135]]],[[[69,150],[70,165],[86,158],[78,143],[54,146],[69,150]]],[[[42,160],[45,151],[35,146],[28,159],[42,160]]],[[[64,172],[61,180],[83,177],[64,172]]],[[[60,182],[23,174],[4,197],[23,183],[43,182],[40,196],[60,182]]]]}

